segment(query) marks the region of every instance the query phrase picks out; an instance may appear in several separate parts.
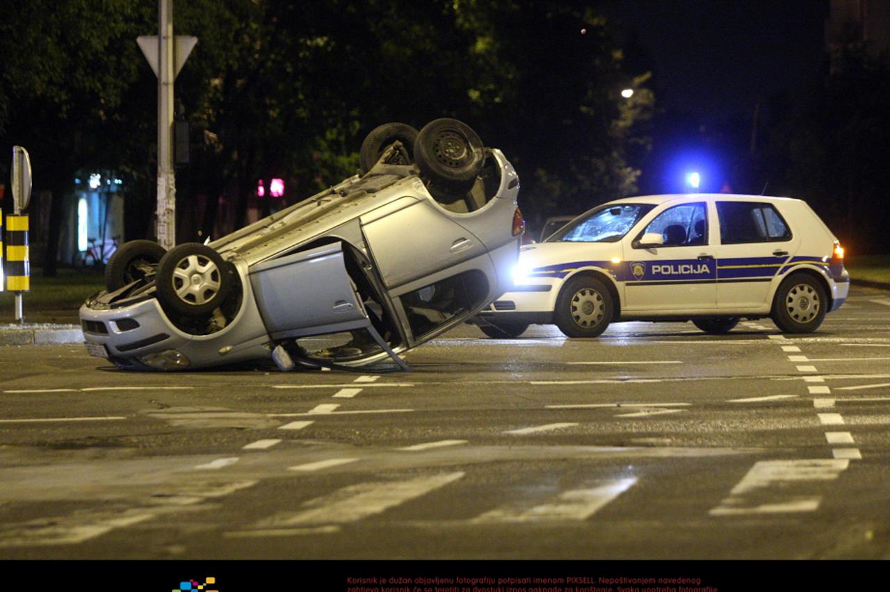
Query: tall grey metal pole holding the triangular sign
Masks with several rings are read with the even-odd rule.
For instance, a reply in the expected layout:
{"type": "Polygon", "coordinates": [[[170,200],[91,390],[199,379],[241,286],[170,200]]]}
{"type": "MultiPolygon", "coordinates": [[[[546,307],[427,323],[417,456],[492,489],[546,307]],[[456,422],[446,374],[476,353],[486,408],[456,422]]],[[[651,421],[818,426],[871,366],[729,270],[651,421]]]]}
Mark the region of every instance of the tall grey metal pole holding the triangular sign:
{"type": "Polygon", "coordinates": [[[158,244],[176,244],[176,179],[173,163],[173,0],[158,0],[158,244]]]}

